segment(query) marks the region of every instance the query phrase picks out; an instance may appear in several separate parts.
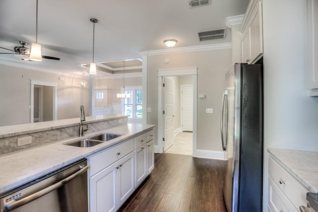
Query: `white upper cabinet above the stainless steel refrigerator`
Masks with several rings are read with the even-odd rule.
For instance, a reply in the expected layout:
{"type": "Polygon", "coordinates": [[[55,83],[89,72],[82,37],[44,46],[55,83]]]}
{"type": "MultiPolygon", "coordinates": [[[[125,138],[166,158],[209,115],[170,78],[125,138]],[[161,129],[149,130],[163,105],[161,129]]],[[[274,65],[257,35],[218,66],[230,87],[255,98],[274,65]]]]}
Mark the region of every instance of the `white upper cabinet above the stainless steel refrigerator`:
{"type": "Polygon", "coordinates": [[[254,64],[263,56],[262,2],[250,0],[239,31],[242,63],[254,64]]]}

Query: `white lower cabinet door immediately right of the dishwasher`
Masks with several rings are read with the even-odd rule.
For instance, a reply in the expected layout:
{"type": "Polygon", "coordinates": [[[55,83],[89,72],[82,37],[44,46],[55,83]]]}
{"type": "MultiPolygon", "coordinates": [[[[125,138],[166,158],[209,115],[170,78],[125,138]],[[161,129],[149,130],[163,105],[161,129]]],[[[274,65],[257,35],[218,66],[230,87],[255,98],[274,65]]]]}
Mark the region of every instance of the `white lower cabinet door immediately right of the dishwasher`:
{"type": "Polygon", "coordinates": [[[89,178],[90,212],[116,211],[117,164],[89,178]]]}

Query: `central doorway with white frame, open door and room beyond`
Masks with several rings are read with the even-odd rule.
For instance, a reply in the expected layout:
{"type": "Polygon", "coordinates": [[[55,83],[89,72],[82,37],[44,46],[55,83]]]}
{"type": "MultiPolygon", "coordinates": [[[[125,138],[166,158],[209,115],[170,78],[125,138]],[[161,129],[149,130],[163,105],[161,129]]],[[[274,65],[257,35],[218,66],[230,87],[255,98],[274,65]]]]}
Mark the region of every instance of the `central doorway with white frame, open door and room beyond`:
{"type": "MultiPolygon", "coordinates": [[[[175,88],[177,90],[177,92],[173,92],[173,112],[172,112],[172,117],[173,117],[173,121],[172,121],[172,125],[173,130],[173,137],[174,137],[174,141],[180,141],[184,138],[190,138],[190,145],[191,145],[191,149],[190,152],[191,153],[187,153],[189,155],[193,155],[194,157],[196,156],[196,152],[197,152],[197,141],[196,141],[196,134],[197,134],[197,68],[188,68],[188,69],[169,69],[169,70],[158,70],[158,83],[159,83],[159,95],[158,95],[158,147],[157,147],[157,152],[161,153],[163,151],[165,152],[169,152],[171,149],[173,149],[173,145],[170,148],[166,148],[165,145],[169,145],[169,143],[167,143],[166,138],[167,138],[167,131],[166,129],[169,127],[169,125],[171,125],[171,122],[167,122],[167,117],[165,115],[168,115],[169,113],[167,113],[164,110],[166,109],[166,105],[165,105],[165,99],[166,99],[166,93],[165,93],[165,88],[163,87],[163,82],[164,82],[164,86],[166,86],[166,80],[167,78],[169,79],[175,79],[173,82],[173,88],[175,88]],[[190,110],[192,108],[192,119],[188,119],[189,122],[192,122],[191,124],[188,124],[188,127],[190,127],[190,129],[188,128],[189,132],[186,136],[183,134],[182,132],[182,121],[186,120],[185,117],[182,118],[181,121],[181,116],[183,116],[183,114],[181,113],[182,107],[180,107],[181,105],[181,86],[180,86],[180,78],[182,77],[186,77],[188,80],[190,80],[190,83],[181,83],[182,85],[192,85],[188,86],[188,88],[190,87],[190,89],[192,89],[192,92],[190,92],[192,94],[192,101],[190,101],[192,103],[190,110]],[[178,81],[177,83],[175,83],[175,81],[178,81]],[[176,94],[177,93],[177,94],[176,94]],[[176,95],[175,95],[176,94],[176,95]],[[176,110],[177,109],[177,110],[176,110]],[[163,113],[164,111],[164,113],[163,113]],[[177,112],[176,112],[177,111],[177,112]],[[166,114],[165,114],[166,113],[166,114]],[[169,125],[168,125],[169,124],[169,125]],[[192,129],[191,129],[192,128],[192,129]],[[178,134],[180,134],[180,138],[178,138],[178,134]],[[183,135],[182,135],[183,134],[183,135]],[[170,149],[170,150],[169,150],[170,149]]],[[[191,98],[191,97],[189,97],[191,98]]],[[[191,116],[190,114],[188,114],[189,116],[191,116]]],[[[174,143],[173,141],[173,143],[174,143]]],[[[184,143],[180,143],[178,144],[179,146],[185,146],[184,143]]],[[[175,147],[177,147],[175,145],[175,147]]],[[[180,149],[177,147],[177,149],[180,149]]],[[[173,152],[170,152],[173,153],[173,152]]],[[[182,154],[179,152],[179,154],[182,154]]]]}

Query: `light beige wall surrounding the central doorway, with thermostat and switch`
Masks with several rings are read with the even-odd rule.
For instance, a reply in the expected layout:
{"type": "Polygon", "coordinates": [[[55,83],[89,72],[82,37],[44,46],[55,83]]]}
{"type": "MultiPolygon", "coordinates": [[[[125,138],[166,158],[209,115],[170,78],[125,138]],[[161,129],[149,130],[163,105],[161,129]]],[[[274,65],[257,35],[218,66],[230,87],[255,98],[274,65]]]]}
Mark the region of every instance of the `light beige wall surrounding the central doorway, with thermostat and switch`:
{"type": "Polygon", "coordinates": [[[198,99],[197,149],[222,151],[221,99],[225,73],[231,68],[231,55],[231,49],[223,49],[148,56],[147,107],[151,108],[152,112],[148,112],[147,123],[158,124],[157,70],[198,67],[198,93],[205,93],[207,98],[198,99]],[[164,64],[165,59],[169,59],[168,64],[164,64]],[[214,113],[206,114],[205,108],[213,108],[214,113]]]}

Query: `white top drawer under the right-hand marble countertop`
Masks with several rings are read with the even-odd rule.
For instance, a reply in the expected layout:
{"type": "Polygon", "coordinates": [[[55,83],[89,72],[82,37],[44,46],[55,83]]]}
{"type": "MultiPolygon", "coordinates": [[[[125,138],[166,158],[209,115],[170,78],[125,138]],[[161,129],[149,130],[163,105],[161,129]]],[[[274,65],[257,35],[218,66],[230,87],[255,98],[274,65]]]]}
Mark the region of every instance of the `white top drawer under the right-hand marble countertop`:
{"type": "Polygon", "coordinates": [[[299,208],[301,205],[306,206],[306,194],[309,191],[272,157],[269,157],[268,160],[269,176],[273,179],[279,189],[296,208],[299,208]]]}

